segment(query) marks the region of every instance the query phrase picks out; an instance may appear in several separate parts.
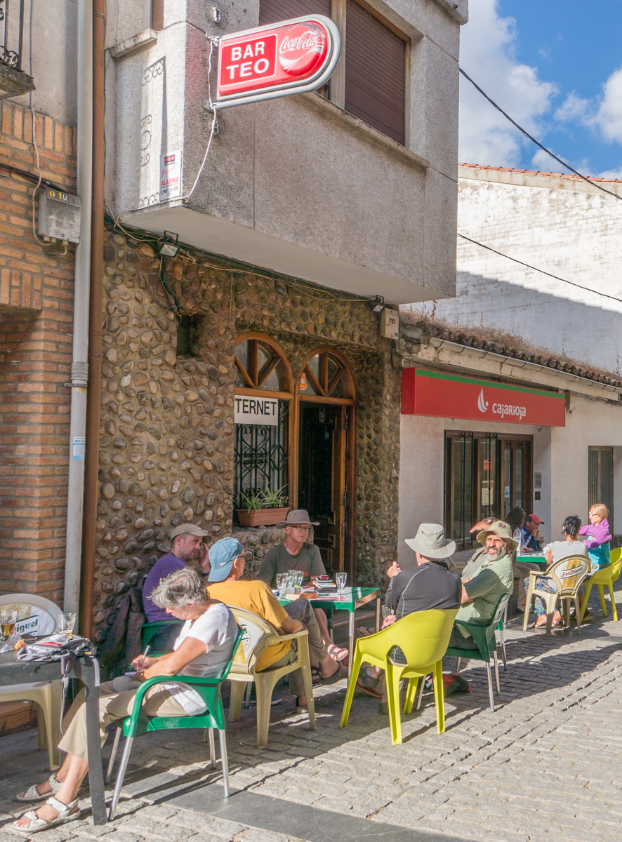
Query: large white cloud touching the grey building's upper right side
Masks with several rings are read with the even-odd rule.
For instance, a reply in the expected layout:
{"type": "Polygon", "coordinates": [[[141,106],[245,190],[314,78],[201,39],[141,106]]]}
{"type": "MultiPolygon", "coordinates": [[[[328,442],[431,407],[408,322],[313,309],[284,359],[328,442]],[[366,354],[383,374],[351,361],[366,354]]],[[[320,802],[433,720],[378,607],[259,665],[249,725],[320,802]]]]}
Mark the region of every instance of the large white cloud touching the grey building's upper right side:
{"type": "MultiPolygon", "coordinates": [[[[557,86],[542,82],[536,68],[517,61],[515,27],[513,18],[499,16],[497,0],[470,0],[469,23],[461,31],[460,66],[517,123],[539,136],[539,118],[550,110],[557,86]]],[[[516,167],[522,146],[523,136],[461,78],[460,161],[516,167]]]]}

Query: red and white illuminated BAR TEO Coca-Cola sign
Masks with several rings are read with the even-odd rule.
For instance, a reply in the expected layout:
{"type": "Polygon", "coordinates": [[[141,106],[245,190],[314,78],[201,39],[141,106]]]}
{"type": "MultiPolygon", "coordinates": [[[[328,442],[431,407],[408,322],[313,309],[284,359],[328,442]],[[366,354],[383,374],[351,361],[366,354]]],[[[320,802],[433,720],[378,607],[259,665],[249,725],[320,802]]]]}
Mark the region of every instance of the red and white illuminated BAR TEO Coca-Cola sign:
{"type": "Polygon", "coordinates": [[[321,88],[335,70],[340,35],[324,15],[223,35],[217,109],[321,88]]]}

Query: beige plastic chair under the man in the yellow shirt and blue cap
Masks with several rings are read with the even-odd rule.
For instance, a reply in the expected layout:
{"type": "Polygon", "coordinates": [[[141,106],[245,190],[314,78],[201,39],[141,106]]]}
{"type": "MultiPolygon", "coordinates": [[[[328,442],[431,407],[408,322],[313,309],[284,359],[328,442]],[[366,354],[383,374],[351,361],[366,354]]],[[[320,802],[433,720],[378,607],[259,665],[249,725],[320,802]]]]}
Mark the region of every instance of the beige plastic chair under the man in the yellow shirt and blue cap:
{"type": "Polygon", "coordinates": [[[280,635],[274,626],[252,611],[239,608],[237,605],[229,605],[233,616],[239,626],[244,628],[244,637],[239,646],[238,653],[233,659],[233,666],[228,675],[231,682],[231,698],[229,701],[229,722],[237,722],[239,711],[244,699],[246,685],[255,681],[257,695],[257,745],[265,748],[268,744],[268,730],[270,728],[270,709],[272,701],[272,690],[276,682],[283,675],[292,673],[295,669],[303,670],[304,690],[307,695],[309,727],[315,730],[315,708],[314,690],[311,680],[311,663],[308,655],[308,631],[294,632],[293,634],[280,635]],[[259,672],[255,669],[257,658],[267,646],[275,643],[282,643],[286,640],[295,640],[298,643],[298,658],[293,663],[287,663],[284,667],[262,669],[259,672]]]}

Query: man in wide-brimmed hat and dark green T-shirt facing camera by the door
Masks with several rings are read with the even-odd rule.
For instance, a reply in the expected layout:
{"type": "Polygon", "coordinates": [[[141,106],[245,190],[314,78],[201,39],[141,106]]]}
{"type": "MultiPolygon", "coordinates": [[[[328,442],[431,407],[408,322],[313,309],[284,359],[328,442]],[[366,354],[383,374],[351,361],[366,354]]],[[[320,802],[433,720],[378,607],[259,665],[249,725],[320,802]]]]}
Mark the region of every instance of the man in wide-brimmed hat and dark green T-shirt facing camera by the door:
{"type": "MultiPolygon", "coordinates": [[[[309,582],[314,582],[318,576],[324,576],[326,570],[322,557],[319,555],[319,548],[315,544],[310,544],[307,540],[311,527],[319,526],[319,521],[312,521],[305,509],[294,509],[287,514],[285,520],[281,520],[276,525],[285,527],[285,541],[271,547],[265,553],[257,578],[274,589],[276,588],[276,574],[287,573],[288,570],[302,570],[303,584],[309,584],[309,582]]],[[[296,603],[299,601],[296,600],[296,603]]],[[[294,619],[300,620],[301,617],[294,616],[297,608],[298,605],[293,604],[289,614],[294,619]]],[[[328,621],[324,611],[321,608],[314,608],[314,614],[330,656],[339,663],[343,663],[347,658],[348,650],[336,647],[330,639],[328,621]]]]}

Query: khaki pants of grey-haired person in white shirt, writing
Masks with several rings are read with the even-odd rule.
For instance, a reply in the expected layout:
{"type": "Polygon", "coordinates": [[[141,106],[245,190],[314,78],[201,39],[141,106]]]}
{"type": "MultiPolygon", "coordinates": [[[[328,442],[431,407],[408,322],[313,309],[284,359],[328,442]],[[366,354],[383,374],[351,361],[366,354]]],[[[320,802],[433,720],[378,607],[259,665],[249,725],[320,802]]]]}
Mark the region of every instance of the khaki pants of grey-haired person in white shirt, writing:
{"type": "MultiPolygon", "coordinates": [[[[125,719],[131,715],[135,695],[136,689],[117,692],[112,686],[112,681],[105,681],[99,686],[99,735],[102,745],[108,736],[107,726],[110,722],[125,719]]],[[[58,743],[59,749],[82,760],[88,759],[85,699],[85,691],[80,690],[62,721],[65,734],[58,743]]],[[[145,711],[147,717],[184,717],[186,715],[184,708],[174,701],[169,690],[163,690],[159,685],[154,685],[147,690],[142,700],[142,710],[145,711]]]]}

